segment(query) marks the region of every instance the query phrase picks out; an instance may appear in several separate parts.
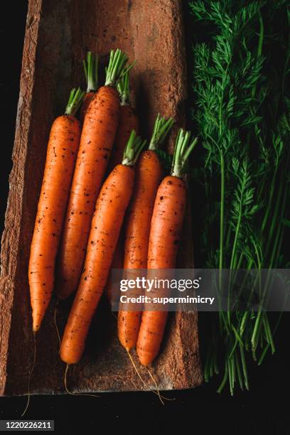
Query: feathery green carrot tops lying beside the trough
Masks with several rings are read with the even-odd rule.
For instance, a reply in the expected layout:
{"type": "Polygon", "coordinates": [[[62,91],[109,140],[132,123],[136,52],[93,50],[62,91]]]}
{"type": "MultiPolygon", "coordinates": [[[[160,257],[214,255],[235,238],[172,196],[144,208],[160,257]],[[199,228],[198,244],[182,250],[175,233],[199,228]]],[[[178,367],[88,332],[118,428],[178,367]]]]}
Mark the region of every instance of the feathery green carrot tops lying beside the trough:
{"type": "MultiPolygon", "coordinates": [[[[192,110],[203,144],[203,267],[286,267],[289,227],[290,13],[287,1],[190,1],[192,110]],[[218,237],[217,237],[218,235],[218,237]]],[[[247,358],[274,352],[267,313],[218,313],[205,380],[249,388],[247,358]],[[217,350],[219,349],[219,358],[217,350]],[[257,355],[259,349],[259,355],[257,355]]]]}

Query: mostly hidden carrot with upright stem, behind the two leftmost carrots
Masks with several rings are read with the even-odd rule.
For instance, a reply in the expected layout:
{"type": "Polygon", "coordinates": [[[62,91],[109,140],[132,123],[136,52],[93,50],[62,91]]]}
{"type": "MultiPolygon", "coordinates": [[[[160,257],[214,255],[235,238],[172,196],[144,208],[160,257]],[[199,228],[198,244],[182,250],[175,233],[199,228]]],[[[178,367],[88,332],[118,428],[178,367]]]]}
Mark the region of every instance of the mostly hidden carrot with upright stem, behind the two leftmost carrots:
{"type": "Polygon", "coordinates": [[[85,80],[87,82],[87,92],[85,94],[84,101],[82,103],[82,108],[80,109],[80,124],[84,123],[85,114],[87,109],[94,97],[95,92],[97,92],[97,55],[92,54],[90,51],[87,52],[87,61],[82,60],[85,70],[85,80]]]}

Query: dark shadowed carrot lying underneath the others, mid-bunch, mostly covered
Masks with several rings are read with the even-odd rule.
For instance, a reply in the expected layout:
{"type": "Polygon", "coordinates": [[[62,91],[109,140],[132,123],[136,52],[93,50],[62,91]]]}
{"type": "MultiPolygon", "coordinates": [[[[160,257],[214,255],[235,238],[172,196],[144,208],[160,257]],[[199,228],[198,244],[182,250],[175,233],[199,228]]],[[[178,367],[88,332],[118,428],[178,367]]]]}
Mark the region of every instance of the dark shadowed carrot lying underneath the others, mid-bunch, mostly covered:
{"type": "MultiPolygon", "coordinates": [[[[129,97],[129,71],[122,77],[117,85],[117,90],[121,97],[121,107],[120,107],[120,117],[119,125],[117,129],[116,139],[114,141],[114,147],[112,149],[112,157],[109,161],[109,172],[118,165],[122,163],[124,149],[126,148],[127,142],[131,131],[136,131],[138,134],[139,121],[138,117],[130,105],[129,97]]],[[[124,261],[124,231],[121,231],[119,240],[117,242],[117,247],[114,252],[114,257],[112,261],[112,269],[122,269],[124,261]]],[[[112,279],[111,274],[107,281],[106,288],[104,289],[104,294],[107,296],[108,301],[112,300],[112,279]]]]}

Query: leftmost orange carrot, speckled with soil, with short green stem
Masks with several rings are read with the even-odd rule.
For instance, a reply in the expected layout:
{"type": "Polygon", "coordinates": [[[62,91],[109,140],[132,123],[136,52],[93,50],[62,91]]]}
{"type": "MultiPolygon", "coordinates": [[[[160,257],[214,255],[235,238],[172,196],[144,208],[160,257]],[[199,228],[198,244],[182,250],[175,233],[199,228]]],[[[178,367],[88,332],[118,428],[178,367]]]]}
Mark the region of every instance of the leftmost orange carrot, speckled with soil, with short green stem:
{"type": "Polygon", "coordinates": [[[65,114],[55,119],[50,130],[28,266],[34,332],[41,327],[53,291],[55,257],[80,144],[75,112],[84,95],[80,88],[70,92],[65,114]]]}

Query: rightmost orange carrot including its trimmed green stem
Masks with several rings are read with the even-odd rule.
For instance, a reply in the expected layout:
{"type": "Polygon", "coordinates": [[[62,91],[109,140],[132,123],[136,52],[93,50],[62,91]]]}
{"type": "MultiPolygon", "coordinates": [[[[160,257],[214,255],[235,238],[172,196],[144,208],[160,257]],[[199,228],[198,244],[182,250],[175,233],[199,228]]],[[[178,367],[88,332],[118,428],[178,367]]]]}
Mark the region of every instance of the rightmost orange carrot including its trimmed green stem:
{"type": "MultiPolygon", "coordinates": [[[[149,274],[151,269],[173,269],[176,266],[176,254],[186,210],[186,183],[181,177],[197,139],[191,144],[189,141],[190,133],[180,129],[176,139],[171,176],[163,178],[156,195],[149,235],[149,274]]],[[[154,297],[153,291],[150,296],[154,297]]],[[[152,311],[152,305],[149,307],[145,304],[137,341],[137,355],[142,365],[149,365],[158,355],[166,318],[166,311],[152,311]]]]}

